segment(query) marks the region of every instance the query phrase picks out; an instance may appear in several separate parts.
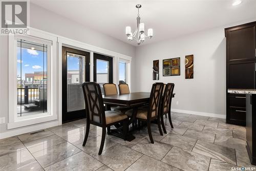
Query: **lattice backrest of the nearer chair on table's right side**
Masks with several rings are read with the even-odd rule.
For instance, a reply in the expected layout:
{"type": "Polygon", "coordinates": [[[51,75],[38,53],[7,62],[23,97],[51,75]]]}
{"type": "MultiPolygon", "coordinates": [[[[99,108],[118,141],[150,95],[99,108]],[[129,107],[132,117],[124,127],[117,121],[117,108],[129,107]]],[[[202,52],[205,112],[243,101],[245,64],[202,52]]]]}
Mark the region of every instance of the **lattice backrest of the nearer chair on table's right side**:
{"type": "Polygon", "coordinates": [[[158,116],[160,112],[160,100],[163,92],[162,82],[156,82],[152,85],[151,94],[150,94],[150,103],[147,111],[147,118],[152,118],[158,116]]]}

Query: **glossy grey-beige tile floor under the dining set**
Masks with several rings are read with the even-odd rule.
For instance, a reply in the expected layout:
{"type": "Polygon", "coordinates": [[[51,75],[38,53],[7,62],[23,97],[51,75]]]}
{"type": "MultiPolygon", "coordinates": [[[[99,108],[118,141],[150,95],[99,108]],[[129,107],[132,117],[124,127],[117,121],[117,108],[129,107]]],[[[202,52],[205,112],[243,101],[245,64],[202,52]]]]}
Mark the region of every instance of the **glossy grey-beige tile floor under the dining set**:
{"type": "Polygon", "coordinates": [[[172,113],[172,129],[161,136],[152,124],[151,144],[146,128],[132,142],[107,135],[98,156],[101,128],[91,126],[82,146],[86,119],[51,127],[36,134],[0,140],[0,170],[231,170],[250,165],[246,130],[225,119],[172,113]]]}

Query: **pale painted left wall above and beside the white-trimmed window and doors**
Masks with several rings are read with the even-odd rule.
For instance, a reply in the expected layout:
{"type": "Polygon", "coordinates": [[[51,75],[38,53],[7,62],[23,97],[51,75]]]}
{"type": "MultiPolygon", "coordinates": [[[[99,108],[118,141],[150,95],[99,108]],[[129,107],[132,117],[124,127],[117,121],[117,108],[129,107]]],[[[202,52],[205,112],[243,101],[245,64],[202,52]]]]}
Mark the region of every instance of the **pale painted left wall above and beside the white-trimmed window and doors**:
{"type": "MultiPolygon", "coordinates": [[[[124,55],[135,56],[135,47],[118,39],[84,27],[65,17],[44,8],[30,5],[30,26],[39,30],[58,34],[78,40],[99,48],[111,50],[124,55]]],[[[0,133],[19,130],[7,130],[8,123],[8,36],[0,36],[0,117],[6,118],[5,124],[0,124],[0,133]]],[[[37,124],[39,128],[46,123],[37,124]]],[[[49,123],[47,123],[49,125],[49,123]]],[[[50,122],[51,124],[51,122],[50,122]]],[[[28,126],[25,127],[28,129],[28,126]]],[[[1,137],[1,136],[0,136],[1,137]]]]}

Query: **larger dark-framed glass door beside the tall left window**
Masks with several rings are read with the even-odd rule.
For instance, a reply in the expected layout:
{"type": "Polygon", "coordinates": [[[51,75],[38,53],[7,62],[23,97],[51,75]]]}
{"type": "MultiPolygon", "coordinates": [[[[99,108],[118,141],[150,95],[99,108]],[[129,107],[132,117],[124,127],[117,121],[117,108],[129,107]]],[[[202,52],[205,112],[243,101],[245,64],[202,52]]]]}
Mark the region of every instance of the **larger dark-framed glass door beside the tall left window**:
{"type": "Polygon", "coordinates": [[[86,117],[81,84],[90,81],[90,53],[62,47],[62,123],[86,117]]]}

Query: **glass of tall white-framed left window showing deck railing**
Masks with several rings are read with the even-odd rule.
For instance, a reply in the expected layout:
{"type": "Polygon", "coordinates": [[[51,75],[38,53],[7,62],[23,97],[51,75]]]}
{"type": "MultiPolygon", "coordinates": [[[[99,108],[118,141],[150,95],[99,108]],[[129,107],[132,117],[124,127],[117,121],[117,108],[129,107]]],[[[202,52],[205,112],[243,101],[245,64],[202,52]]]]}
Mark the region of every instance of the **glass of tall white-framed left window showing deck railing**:
{"type": "Polygon", "coordinates": [[[17,116],[47,112],[46,44],[17,40],[17,116]]]}

